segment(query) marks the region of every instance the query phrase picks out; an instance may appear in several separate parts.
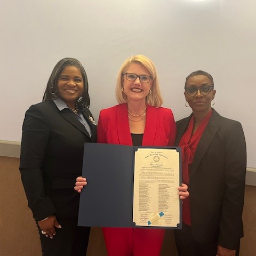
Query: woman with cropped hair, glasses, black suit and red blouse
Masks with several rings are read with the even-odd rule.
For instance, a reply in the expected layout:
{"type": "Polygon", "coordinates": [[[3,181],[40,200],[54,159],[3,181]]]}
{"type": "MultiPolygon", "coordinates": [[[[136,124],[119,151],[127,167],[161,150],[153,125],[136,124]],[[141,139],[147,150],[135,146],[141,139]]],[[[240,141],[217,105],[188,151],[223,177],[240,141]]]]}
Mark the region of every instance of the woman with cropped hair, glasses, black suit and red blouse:
{"type": "Polygon", "coordinates": [[[177,122],[175,140],[183,153],[183,183],[189,187],[189,197],[183,200],[183,228],[175,230],[178,253],[235,256],[243,236],[243,129],[211,108],[215,90],[205,71],[186,78],[184,94],[193,113],[177,122]]]}

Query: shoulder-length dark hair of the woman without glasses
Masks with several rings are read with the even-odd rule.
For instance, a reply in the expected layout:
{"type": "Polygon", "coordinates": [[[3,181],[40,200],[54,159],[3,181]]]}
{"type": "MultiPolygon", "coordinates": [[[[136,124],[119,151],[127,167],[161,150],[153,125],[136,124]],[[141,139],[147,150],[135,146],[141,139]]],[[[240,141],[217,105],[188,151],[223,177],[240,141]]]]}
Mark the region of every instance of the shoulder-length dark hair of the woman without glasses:
{"type": "Polygon", "coordinates": [[[60,77],[60,74],[62,73],[63,69],[67,67],[76,67],[81,71],[83,81],[84,81],[84,91],[79,97],[79,101],[77,100],[77,103],[79,105],[82,105],[84,107],[89,107],[90,106],[90,97],[88,93],[88,79],[86,72],[84,70],[84,67],[82,64],[79,62],[79,60],[74,59],[74,58],[64,58],[60,60],[55,67],[52,70],[52,74],[49,78],[49,81],[47,83],[46,89],[44,91],[44,97],[43,101],[46,100],[55,100],[59,98],[59,93],[58,93],[58,79],[60,77]]]}

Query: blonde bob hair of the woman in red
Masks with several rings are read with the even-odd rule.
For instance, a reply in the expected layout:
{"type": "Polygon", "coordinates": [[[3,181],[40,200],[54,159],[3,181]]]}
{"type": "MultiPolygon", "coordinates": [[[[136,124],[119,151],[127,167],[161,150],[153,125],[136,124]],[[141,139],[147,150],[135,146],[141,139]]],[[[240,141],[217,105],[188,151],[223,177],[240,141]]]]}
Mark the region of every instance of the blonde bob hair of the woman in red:
{"type": "Polygon", "coordinates": [[[116,82],[116,99],[118,103],[126,103],[127,96],[122,91],[122,78],[126,70],[132,65],[132,63],[140,63],[143,65],[150,73],[152,78],[152,85],[151,85],[151,93],[146,97],[146,103],[153,107],[161,107],[163,104],[163,98],[160,91],[159,83],[158,83],[158,75],[156,71],[156,67],[154,63],[144,55],[135,55],[131,58],[124,61],[123,65],[121,66],[118,75],[117,75],[117,82],[116,82]]]}

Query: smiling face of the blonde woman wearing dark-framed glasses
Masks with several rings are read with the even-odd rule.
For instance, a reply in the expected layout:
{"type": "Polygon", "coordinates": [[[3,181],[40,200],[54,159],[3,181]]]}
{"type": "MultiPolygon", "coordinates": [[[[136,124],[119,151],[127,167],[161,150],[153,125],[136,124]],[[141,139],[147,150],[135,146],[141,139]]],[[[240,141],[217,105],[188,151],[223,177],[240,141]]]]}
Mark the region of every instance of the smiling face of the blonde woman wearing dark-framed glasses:
{"type": "MultiPolygon", "coordinates": [[[[137,76],[146,75],[151,76],[147,68],[141,63],[133,62],[125,71],[125,73],[132,73],[137,76]]],[[[152,79],[148,83],[140,82],[140,78],[137,77],[135,81],[128,81],[126,75],[123,75],[123,92],[127,96],[127,102],[129,101],[141,101],[145,104],[146,97],[150,93],[149,90],[152,85],[152,79]]]]}

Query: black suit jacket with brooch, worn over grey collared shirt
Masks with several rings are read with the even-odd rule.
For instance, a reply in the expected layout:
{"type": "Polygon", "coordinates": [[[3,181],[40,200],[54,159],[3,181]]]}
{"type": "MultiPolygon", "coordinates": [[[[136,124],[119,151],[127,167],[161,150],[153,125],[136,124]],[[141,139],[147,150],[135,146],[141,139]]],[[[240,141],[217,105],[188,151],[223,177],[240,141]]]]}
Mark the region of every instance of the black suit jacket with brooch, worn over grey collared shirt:
{"type": "Polygon", "coordinates": [[[74,190],[82,174],[85,142],[96,141],[92,114],[83,109],[92,137],[69,109],[53,101],[31,106],[22,127],[20,172],[28,206],[36,221],[49,215],[78,215],[79,194],[74,190]]]}

